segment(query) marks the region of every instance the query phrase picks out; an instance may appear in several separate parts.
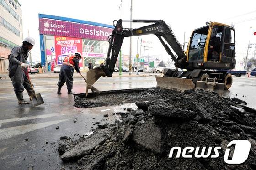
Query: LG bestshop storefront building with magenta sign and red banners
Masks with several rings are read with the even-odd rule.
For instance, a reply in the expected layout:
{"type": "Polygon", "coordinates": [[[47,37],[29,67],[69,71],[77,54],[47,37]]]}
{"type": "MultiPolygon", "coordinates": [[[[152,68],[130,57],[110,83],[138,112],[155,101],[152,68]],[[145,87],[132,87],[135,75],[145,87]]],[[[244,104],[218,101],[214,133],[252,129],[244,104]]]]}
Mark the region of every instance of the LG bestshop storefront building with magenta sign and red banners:
{"type": "Polygon", "coordinates": [[[99,66],[105,62],[108,36],[114,26],[39,14],[39,31],[42,66],[53,70],[64,58],[75,52],[82,54],[80,69],[88,69],[88,63],[99,66]]]}

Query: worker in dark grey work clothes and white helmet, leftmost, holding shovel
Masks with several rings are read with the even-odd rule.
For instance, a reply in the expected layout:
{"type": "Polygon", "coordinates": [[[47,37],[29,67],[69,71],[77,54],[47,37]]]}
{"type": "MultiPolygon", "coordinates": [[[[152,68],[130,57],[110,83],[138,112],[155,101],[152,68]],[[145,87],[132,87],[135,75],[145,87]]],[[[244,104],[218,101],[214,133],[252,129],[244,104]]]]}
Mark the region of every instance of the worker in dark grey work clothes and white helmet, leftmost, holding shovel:
{"type": "Polygon", "coordinates": [[[33,94],[28,78],[25,76],[25,72],[27,72],[27,68],[29,67],[26,62],[28,54],[34,45],[35,40],[31,37],[26,37],[22,42],[22,46],[14,47],[11,50],[11,54],[8,56],[9,77],[11,78],[14,93],[16,94],[19,104],[29,104],[29,102],[26,102],[23,99],[24,88],[27,90],[29,96],[33,94]]]}

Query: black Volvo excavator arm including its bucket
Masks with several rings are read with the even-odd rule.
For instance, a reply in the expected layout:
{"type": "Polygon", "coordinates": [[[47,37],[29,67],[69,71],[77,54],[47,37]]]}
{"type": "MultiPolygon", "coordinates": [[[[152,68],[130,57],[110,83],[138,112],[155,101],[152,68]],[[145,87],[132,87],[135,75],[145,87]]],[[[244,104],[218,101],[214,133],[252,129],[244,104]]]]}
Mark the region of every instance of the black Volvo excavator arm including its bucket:
{"type": "Polygon", "coordinates": [[[121,46],[123,44],[123,39],[125,37],[131,36],[142,36],[148,34],[154,34],[158,37],[162,45],[165,47],[166,52],[171,56],[177,68],[184,68],[187,65],[186,59],[187,54],[183,51],[180,43],[177,41],[174,36],[171,28],[163,20],[115,20],[115,28],[112,31],[112,35],[109,36],[109,48],[107,52],[107,59],[104,64],[101,64],[95,69],[89,70],[87,72],[87,88],[86,96],[88,94],[88,89],[93,89],[92,86],[101,76],[112,77],[114,72],[114,67],[117,62],[117,57],[120,52],[121,46]],[[116,24],[115,24],[116,22],[116,24]],[[124,29],[122,22],[144,22],[144,23],[153,23],[148,26],[143,26],[137,29],[124,29]],[[172,50],[176,53],[173,54],[170,47],[165,43],[165,41],[171,46],[172,50]]]}

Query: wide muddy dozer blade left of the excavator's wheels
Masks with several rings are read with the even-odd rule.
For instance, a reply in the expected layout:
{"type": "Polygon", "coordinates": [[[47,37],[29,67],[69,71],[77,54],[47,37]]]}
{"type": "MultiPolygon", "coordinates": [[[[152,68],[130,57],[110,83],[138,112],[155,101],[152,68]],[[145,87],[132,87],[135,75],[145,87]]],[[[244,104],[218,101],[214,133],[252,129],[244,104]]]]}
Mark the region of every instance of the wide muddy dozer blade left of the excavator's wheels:
{"type": "Polygon", "coordinates": [[[156,76],[155,79],[156,87],[158,88],[166,88],[177,92],[195,88],[195,84],[191,79],[160,76],[156,76]]]}

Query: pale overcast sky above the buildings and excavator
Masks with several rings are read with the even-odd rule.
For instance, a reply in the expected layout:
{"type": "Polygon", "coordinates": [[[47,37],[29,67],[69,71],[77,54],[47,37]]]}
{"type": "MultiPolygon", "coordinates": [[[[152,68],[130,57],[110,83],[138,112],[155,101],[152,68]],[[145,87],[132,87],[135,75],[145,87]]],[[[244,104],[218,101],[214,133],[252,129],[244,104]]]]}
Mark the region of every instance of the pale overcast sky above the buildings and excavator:
{"type": "MultiPolygon", "coordinates": [[[[33,57],[40,61],[40,41],[38,13],[69,17],[112,25],[113,20],[130,19],[131,0],[19,0],[22,8],[23,36],[36,39],[32,49],[33,57]],[[122,12],[121,12],[122,11],[122,12]]],[[[206,21],[233,24],[236,34],[237,60],[245,56],[248,41],[256,44],[256,0],[133,0],[133,19],[162,19],[171,26],[176,38],[183,43],[189,40],[192,31],[205,26],[206,21]]],[[[145,24],[133,23],[133,28],[145,24]]],[[[129,24],[124,25],[129,27],[129,24]]],[[[151,54],[166,54],[156,36],[143,36],[154,41],[151,54]]],[[[137,53],[137,37],[133,37],[133,55],[137,53]]],[[[255,45],[251,45],[249,57],[253,57],[255,45]]],[[[122,46],[124,54],[129,55],[129,38],[122,46]]]]}

